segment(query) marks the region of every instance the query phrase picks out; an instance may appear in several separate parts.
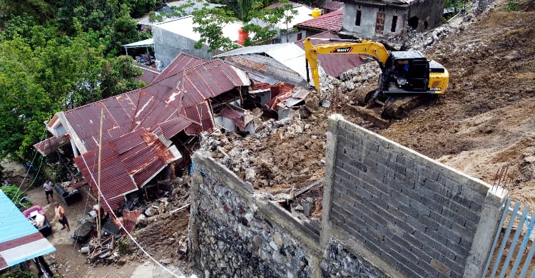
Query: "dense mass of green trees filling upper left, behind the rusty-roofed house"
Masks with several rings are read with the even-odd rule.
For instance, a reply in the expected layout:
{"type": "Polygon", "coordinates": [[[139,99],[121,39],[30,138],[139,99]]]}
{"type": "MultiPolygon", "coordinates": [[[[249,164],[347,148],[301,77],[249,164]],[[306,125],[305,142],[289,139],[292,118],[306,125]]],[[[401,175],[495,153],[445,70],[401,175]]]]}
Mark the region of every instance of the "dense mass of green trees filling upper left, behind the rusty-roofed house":
{"type": "MultiPolygon", "coordinates": [[[[73,15],[56,21],[24,13],[58,8],[52,1],[0,1],[0,158],[31,159],[33,145],[50,136],[44,122],[54,113],[143,86],[133,59],[117,57],[141,36],[128,5],[117,2],[66,0],[73,15]],[[93,9],[108,4],[118,9],[93,9]]],[[[54,10],[62,16],[66,7],[54,10]]]]}

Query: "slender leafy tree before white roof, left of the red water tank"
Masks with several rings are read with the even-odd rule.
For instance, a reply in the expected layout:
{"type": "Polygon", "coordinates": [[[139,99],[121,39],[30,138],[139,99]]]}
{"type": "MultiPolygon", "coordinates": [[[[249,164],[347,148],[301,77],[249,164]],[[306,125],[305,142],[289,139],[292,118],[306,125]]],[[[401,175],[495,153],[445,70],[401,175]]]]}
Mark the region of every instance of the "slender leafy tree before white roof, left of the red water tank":
{"type": "Polygon", "coordinates": [[[203,43],[208,45],[208,51],[213,52],[217,49],[229,51],[237,48],[238,44],[230,41],[230,38],[223,36],[223,27],[235,21],[232,11],[225,9],[200,9],[193,11],[193,23],[198,26],[193,27],[193,31],[200,34],[200,39],[195,43],[195,48],[200,49],[203,43]]]}

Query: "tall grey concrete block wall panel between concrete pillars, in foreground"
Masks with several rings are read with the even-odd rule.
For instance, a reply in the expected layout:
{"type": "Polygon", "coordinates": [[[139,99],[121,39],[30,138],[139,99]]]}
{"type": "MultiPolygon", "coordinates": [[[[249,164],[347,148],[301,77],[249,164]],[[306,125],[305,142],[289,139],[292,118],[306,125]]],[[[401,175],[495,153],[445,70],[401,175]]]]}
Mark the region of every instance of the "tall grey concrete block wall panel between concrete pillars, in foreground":
{"type": "Polygon", "coordinates": [[[341,242],[388,277],[479,274],[505,196],[340,115],[329,118],[326,162],[323,249],[341,242]]]}

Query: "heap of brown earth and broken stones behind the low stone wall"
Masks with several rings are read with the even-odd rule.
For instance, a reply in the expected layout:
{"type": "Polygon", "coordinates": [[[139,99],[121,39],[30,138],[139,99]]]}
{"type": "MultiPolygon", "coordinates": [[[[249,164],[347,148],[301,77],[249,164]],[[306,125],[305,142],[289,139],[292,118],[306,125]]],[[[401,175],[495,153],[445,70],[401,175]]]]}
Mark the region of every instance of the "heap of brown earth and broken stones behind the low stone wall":
{"type": "MultiPolygon", "coordinates": [[[[325,116],[325,115],[323,115],[325,116]]],[[[255,189],[277,193],[302,187],[322,177],[325,161],[325,118],[299,113],[281,120],[266,120],[255,135],[205,134],[201,149],[225,165],[255,189]]]]}

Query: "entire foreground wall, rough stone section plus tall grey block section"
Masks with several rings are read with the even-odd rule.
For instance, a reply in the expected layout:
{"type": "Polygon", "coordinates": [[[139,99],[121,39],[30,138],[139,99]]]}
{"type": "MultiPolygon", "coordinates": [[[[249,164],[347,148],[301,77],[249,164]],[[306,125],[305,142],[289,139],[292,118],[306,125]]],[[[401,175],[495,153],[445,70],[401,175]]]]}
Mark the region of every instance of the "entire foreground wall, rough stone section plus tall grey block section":
{"type": "Polygon", "coordinates": [[[216,277],[480,275],[506,191],[340,115],[327,128],[320,230],[195,153],[189,247],[197,267],[216,277]]]}

